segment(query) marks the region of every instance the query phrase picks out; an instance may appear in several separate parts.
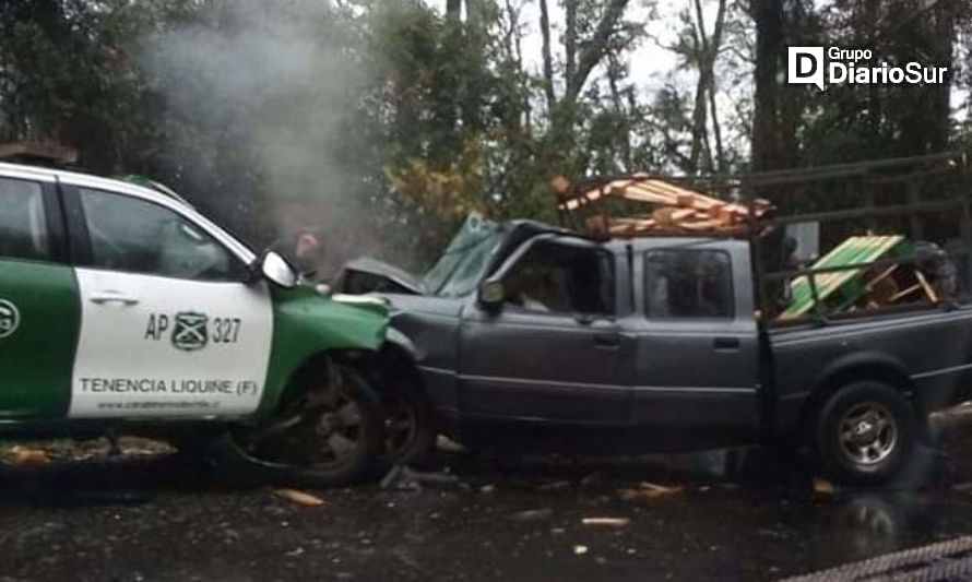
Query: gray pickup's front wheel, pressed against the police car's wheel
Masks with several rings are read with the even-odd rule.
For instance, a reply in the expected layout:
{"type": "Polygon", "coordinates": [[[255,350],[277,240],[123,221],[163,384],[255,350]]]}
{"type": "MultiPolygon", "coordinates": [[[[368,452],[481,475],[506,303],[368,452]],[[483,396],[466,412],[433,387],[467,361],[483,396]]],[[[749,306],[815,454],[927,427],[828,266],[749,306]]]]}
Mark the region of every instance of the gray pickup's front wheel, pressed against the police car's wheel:
{"type": "Polygon", "coordinates": [[[422,464],[432,449],[436,430],[428,404],[410,382],[395,382],[381,394],[384,435],[381,464],[422,464]]]}

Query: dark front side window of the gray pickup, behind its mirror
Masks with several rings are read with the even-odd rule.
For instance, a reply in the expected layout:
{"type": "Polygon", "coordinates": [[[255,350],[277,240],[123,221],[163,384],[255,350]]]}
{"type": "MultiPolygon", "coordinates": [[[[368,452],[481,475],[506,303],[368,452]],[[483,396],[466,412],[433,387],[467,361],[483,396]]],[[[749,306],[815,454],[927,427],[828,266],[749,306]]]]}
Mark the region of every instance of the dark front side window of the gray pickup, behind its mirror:
{"type": "Polygon", "coordinates": [[[615,313],[613,256],[601,249],[538,242],[503,283],[507,302],[528,311],[615,313]]]}

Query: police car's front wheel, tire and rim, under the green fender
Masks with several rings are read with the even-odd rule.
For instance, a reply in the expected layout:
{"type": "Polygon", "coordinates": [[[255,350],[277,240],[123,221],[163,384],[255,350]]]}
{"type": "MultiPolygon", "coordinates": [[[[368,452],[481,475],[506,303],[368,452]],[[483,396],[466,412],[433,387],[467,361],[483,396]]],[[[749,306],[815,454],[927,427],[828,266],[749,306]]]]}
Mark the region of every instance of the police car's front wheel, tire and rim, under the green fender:
{"type": "Polygon", "coordinates": [[[351,368],[311,375],[299,395],[266,427],[233,435],[240,453],[265,479],[308,486],[344,485],[360,477],[379,452],[381,406],[351,368]]]}

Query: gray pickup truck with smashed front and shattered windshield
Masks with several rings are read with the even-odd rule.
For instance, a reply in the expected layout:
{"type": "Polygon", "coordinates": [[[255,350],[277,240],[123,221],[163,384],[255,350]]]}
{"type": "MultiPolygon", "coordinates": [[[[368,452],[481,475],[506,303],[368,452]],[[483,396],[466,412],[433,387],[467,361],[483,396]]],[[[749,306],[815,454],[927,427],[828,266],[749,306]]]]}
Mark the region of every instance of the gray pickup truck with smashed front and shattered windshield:
{"type": "Polygon", "coordinates": [[[387,299],[428,407],[416,417],[463,441],[534,427],[626,452],[785,443],[842,483],[892,478],[927,413],[968,396],[972,310],[771,328],[751,257],[739,239],[596,241],[473,217],[424,277],[369,259],[337,285],[387,299]]]}

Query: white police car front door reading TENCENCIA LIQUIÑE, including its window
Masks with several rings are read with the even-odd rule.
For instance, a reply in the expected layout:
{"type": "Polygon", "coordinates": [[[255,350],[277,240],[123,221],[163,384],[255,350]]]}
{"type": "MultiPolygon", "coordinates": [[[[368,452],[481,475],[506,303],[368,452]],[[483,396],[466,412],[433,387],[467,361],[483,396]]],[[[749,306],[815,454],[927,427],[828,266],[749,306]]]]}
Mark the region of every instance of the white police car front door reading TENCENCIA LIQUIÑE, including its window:
{"type": "Polygon", "coordinates": [[[69,415],[252,413],[272,305],[225,235],[161,195],[63,191],[81,296],[69,415]]]}

